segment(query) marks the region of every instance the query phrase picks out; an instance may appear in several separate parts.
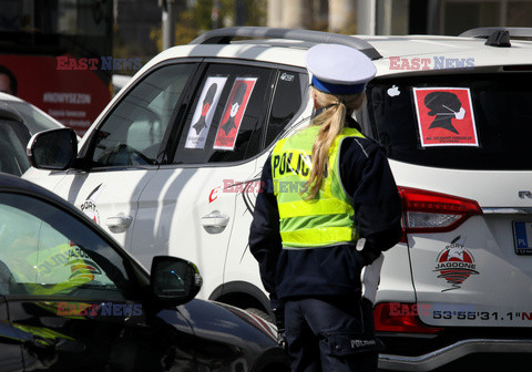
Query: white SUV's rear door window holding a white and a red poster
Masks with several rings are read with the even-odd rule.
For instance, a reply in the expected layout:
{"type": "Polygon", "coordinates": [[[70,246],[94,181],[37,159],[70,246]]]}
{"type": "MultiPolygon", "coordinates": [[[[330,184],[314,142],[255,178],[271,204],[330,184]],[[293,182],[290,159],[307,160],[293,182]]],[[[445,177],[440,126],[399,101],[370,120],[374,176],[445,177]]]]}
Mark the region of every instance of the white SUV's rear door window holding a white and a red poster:
{"type": "Polygon", "coordinates": [[[273,73],[259,66],[208,64],[178,133],[173,163],[238,162],[258,154],[273,73]]]}

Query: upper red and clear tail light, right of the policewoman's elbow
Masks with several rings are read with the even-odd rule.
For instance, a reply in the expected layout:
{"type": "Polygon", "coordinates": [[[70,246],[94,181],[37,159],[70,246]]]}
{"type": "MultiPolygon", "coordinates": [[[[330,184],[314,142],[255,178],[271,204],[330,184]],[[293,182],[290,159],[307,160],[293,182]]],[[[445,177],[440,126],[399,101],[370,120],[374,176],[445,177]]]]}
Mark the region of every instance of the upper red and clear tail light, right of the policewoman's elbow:
{"type": "Polygon", "coordinates": [[[399,187],[405,211],[405,232],[444,232],[469,217],[481,215],[475,200],[410,187],[399,187]]]}

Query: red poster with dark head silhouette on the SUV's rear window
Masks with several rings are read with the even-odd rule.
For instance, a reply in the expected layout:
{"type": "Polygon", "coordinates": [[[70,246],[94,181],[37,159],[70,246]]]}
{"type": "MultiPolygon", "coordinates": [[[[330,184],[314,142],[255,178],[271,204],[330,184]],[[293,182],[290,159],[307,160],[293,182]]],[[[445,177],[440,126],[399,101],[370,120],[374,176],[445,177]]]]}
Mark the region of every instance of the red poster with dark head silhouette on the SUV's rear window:
{"type": "Polygon", "coordinates": [[[468,87],[415,87],[421,146],[479,146],[468,87]]]}

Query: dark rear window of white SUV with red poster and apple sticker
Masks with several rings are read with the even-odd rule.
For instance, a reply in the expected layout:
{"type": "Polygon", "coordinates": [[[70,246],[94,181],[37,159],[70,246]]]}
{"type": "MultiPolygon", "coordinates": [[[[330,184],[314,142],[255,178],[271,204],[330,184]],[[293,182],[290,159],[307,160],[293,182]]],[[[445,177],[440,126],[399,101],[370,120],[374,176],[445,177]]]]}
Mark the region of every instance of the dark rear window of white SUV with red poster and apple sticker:
{"type": "Polygon", "coordinates": [[[454,169],[532,169],[530,73],[375,80],[371,132],[392,159],[454,169]]]}

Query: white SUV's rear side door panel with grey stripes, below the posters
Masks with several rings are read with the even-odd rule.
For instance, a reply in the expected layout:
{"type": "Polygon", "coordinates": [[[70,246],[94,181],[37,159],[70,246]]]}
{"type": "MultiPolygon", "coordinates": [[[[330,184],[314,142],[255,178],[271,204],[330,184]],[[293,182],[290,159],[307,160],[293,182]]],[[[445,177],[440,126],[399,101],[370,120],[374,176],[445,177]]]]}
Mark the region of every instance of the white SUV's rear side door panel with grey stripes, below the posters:
{"type": "MultiPolygon", "coordinates": [[[[143,264],[150,262],[153,255],[168,252],[201,262],[205,273],[200,296],[208,298],[225,282],[229,237],[234,232],[235,219],[239,218],[235,213],[238,195],[224,187],[224,179],[245,182],[254,173],[255,161],[232,167],[161,167],[139,200],[139,213],[131,231],[132,255],[143,264]],[[213,225],[213,230],[202,226],[206,218],[217,216],[225,219],[222,223],[226,224],[225,227],[217,228],[216,221],[207,221],[213,225]]],[[[256,278],[255,283],[258,282],[256,278]]]]}

